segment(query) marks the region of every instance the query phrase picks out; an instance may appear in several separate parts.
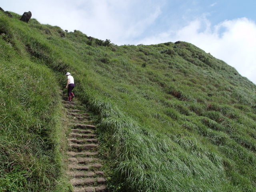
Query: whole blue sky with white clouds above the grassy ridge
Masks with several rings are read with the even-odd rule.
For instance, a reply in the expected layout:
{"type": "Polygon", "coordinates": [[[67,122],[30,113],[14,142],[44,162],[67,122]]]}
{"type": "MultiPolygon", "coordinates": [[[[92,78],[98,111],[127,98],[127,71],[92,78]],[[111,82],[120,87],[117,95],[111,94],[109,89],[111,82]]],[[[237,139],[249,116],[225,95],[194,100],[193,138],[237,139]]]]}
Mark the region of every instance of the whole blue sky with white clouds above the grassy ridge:
{"type": "Polygon", "coordinates": [[[186,41],[256,84],[256,0],[4,0],[0,6],[117,45],[186,41]]]}

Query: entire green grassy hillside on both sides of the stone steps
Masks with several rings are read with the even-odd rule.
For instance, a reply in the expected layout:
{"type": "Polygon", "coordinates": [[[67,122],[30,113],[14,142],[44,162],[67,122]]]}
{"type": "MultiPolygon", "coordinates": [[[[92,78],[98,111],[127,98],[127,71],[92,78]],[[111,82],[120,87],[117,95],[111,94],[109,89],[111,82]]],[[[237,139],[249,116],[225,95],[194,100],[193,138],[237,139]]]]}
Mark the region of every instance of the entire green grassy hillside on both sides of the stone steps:
{"type": "Polygon", "coordinates": [[[187,42],[116,46],[12,15],[0,12],[2,191],[69,191],[67,71],[113,191],[256,191],[256,86],[234,68],[187,42]]]}

